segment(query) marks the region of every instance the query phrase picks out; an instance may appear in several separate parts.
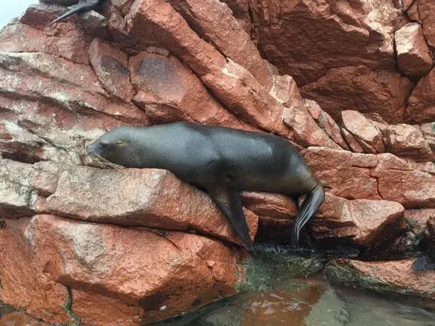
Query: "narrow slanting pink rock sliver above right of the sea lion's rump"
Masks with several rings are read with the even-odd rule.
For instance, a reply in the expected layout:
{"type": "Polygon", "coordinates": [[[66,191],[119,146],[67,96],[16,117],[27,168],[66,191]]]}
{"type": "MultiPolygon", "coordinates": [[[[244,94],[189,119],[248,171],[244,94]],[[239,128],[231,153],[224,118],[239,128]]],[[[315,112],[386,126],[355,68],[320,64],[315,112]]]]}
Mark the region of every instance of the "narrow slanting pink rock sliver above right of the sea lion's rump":
{"type": "Polygon", "coordinates": [[[338,127],[334,119],[323,111],[316,101],[304,99],[304,103],[317,125],[331,137],[331,140],[334,140],[334,142],[340,145],[344,150],[350,150],[346,140],[344,140],[343,135],[341,135],[340,127],[338,127]]]}

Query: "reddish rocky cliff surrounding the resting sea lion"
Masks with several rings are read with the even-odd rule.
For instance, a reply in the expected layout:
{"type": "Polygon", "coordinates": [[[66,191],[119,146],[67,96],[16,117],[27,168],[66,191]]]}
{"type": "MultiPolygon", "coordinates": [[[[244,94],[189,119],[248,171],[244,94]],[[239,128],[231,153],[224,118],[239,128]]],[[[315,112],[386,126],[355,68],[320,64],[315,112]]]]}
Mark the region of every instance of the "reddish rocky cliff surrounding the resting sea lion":
{"type": "MultiPolygon", "coordinates": [[[[206,194],[86,166],[106,130],[175,120],[286,137],[331,186],[315,245],[400,257],[326,274],[435,299],[401,256],[435,250],[433,0],[110,0],[50,27],[77,1],[41,2],[0,33],[1,302],[138,325],[237,293],[246,253],[206,194]]],[[[290,240],[298,203],[243,204],[256,242],[290,240]]]]}

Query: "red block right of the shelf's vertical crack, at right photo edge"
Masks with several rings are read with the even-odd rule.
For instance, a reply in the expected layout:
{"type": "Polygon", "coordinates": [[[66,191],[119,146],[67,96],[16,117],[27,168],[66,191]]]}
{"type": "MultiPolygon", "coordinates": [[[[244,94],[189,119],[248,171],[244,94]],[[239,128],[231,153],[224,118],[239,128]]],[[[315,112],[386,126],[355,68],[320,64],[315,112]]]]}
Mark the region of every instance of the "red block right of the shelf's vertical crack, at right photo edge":
{"type": "Polygon", "coordinates": [[[435,176],[412,170],[386,169],[378,174],[380,196],[405,208],[435,208],[435,176]]]}

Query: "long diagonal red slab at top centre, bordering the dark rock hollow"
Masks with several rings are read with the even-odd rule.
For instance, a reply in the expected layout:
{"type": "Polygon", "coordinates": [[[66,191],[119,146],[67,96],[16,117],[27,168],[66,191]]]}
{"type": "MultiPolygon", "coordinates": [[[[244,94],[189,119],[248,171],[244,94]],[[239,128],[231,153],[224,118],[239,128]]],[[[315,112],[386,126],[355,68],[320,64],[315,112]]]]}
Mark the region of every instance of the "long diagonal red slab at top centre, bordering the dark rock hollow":
{"type": "Polygon", "coordinates": [[[269,91],[273,77],[250,35],[220,1],[169,0],[189,26],[226,57],[247,69],[269,91]]]}

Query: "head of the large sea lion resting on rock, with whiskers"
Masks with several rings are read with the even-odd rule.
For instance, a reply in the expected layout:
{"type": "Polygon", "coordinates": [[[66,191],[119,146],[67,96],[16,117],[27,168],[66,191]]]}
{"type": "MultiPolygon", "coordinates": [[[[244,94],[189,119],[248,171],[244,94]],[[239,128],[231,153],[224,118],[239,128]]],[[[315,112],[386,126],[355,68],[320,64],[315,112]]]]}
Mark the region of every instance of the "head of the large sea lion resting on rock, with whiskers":
{"type": "Polygon", "coordinates": [[[86,153],[108,167],[137,167],[137,131],[131,127],[119,127],[105,133],[86,147],[86,153]]]}

